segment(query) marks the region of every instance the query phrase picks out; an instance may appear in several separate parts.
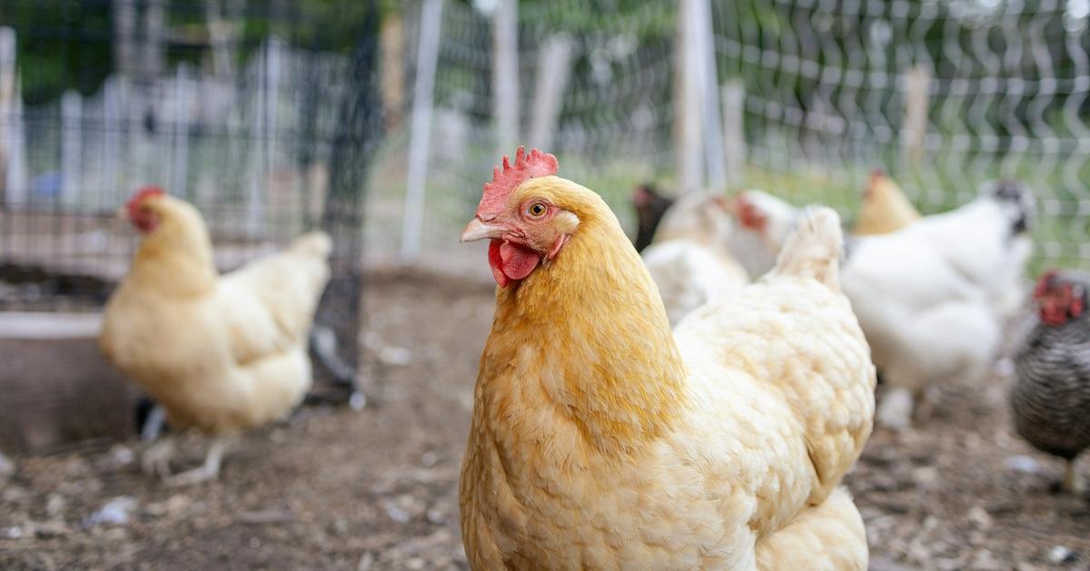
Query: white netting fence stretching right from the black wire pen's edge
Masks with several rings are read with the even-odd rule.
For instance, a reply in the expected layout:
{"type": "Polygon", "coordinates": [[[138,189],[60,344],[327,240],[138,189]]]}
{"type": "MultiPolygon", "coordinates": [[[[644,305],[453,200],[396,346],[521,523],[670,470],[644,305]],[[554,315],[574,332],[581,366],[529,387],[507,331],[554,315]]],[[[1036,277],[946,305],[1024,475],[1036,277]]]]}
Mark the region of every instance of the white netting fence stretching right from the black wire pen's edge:
{"type": "MultiPolygon", "coordinates": [[[[706,53],[697,42],[695,54],[686,52],[691,34],[679,26],[693,2],[519,3],[518,88],[507,92],[516,138],[540,144],[545,133],[564,172],[604,194],[629,227],[631,187],[643,179],[687,186],[679,179],[693,154],[708,157],[699,167],[705,185],[713,167],[726,168],[726,183],[712,185],[759,186],[849,218],[877,167],[925,214],[964,204],[985,180],[1015,177],[1037,193],[1037,263],[1086,265],[1086,2],[712,0],[700,21],[710,28],[706,53]],[[719,153],[685,141],[686,58],[712,62],[700,72],[711,74],[712,94],[697,99],[698,121],[705,139],[722,130],[719,153]]],[[[505,2],[475,5],[441,8],[424,255],[450,255],[491,166],[500,150],[513,150],[500,145],[511,127],[496,109],[504,102],[493,65],[501,61],[496,25],[505,2]]],[[[405,61],[416,61],[427,44],[420,12],[405,17],[405,61]]],[[[404,160],[413,138],[400,130],[391,148],[402,154],[390,156],[404,160]]],[[[390,161],[397,183],[374,197],[376,211],[388,215],[386,227],[372,229],[378,243],[402,234],[404,169],[390,161]]]]}

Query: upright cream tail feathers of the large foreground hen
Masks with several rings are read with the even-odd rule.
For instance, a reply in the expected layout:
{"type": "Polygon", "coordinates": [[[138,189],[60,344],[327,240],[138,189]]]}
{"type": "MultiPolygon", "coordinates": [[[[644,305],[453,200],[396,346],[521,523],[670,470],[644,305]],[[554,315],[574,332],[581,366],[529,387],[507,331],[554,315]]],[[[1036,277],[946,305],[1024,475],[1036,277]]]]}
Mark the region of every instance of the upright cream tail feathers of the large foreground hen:
{"type": "Polygon", "coordinates": [[[844,233],[832,208],[808,208],[776,259],[774,274],[813,278],[840,291],[839,265],[844,233]]]}

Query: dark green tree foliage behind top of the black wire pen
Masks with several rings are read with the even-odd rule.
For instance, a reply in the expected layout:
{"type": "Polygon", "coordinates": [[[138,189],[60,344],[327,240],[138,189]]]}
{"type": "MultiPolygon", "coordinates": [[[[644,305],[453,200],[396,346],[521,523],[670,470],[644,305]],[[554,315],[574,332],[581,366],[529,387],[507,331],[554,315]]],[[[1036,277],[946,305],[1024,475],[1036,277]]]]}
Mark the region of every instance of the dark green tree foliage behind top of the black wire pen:
{"type": "MultiPolygon", "coordinates": [[[[269,33],[307,48],[350,53],[368,2],[338,0],[0,0],[0,24],[15,29],[27,104],[66,89],[90,95],[113,72],[137,78],[178,61],[219,64],[214,47],[237,40],[233,69],[269,33]],[[229,27],[209,28],[209,14],[229,27]],[[226,38],[226,40],[225,40],[226,38]]],[[[401,10],[383,0],[382,13],[401,10]]]]}

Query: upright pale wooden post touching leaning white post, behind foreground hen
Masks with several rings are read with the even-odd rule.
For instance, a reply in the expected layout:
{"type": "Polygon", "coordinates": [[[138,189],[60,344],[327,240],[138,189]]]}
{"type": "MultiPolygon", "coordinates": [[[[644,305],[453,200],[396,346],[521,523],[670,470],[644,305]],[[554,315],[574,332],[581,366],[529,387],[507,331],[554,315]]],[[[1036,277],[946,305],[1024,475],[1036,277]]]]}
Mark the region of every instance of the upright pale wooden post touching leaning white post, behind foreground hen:
{"type": "Polygon", "coordinates": [[[677,64],[675,73],[674,117],[675,151],[677,153],[678,193],[703,186],[704,147],[700,118],[700,45],[695,34],[697,2],[681,0],[678,4],[677,64]]]}

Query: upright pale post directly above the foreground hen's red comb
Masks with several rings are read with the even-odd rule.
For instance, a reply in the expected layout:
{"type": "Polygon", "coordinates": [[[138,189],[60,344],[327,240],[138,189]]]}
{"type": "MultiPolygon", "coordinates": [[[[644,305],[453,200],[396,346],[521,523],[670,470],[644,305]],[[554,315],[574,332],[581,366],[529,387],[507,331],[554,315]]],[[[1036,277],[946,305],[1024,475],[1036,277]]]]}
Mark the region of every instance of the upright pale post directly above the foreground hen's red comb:
{"type": "Polygon", "coordinates": [[[492,94],[499,155],[519,142],[519,5],[497,0],[492,15],[492,94]]]}

